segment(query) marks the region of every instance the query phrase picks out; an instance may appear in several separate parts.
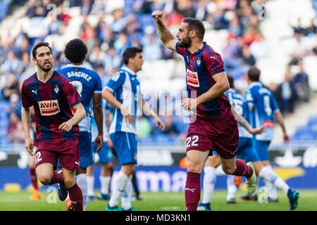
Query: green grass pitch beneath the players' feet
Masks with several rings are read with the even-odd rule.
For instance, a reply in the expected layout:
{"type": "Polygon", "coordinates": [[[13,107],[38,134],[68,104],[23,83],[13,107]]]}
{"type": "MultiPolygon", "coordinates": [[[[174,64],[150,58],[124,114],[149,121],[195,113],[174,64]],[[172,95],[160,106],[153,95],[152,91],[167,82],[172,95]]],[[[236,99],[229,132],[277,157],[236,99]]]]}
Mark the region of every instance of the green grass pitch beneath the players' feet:
{"type": "MultiPolygon", "coordinates": [[[[280,191],[279,203],[258,203],[240,200],[242,191],[237,192],[237,204],[228,205],[225,202],[226,191],[215,191],[212,198],[212,210],[214,211],[282,211],[288,210],[289,204],[287,197],[280,191]]],[[[297,210],[317,211],[317,191],[299,190],[299,207],[297,210]]],[[[65,210],[65,205],[57,200],[57,203],[47,203],[49,193],[43,191],[40,200],[29,200],[30,192],[20,191],[17,193],[0,192],[0,210],[16,211],[46,211],[46,210],[65,210]]],[[[134,201],[132,205],[137,211],[178,211],[185,210],[184,193],[142,193],[144,200],[134,201]]],[[[108,201],[94,200],[87,203],[88,211],[104,210],[108,201]]]]}

